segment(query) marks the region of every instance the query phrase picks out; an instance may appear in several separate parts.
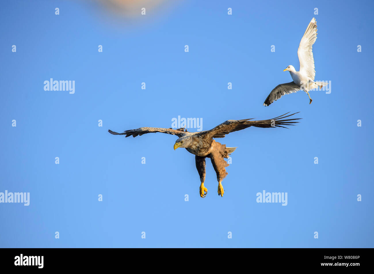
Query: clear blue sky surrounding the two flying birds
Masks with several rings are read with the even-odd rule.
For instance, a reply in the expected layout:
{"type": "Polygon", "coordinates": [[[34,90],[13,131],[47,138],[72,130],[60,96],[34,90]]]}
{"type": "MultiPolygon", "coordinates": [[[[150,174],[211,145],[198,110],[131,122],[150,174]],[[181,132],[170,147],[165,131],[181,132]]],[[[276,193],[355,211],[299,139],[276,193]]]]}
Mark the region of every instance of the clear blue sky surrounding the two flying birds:
{"type": "Polygon", "coordinates": [[[0,192],[30,192],[30,205],[0,203],[0,247],[373,248],[373,2],[206,2],[129,19],[88,1],[3,1],[0,192]],[[264,107],[291,81],[282,70],[298,70],[313,17],[315,79],[331,93],[264,107]],[[50,78],[75,81],[75,93],[45,91],[50,78]],[[175,136],[107,132],[288,111],[301,123],[217,140],[238,147],[223,198],[209,160],[200,198],[194,155],[174,151],[175,136]],[[263,190],[287,192],[287,206],[257,203],[263,190]]]}

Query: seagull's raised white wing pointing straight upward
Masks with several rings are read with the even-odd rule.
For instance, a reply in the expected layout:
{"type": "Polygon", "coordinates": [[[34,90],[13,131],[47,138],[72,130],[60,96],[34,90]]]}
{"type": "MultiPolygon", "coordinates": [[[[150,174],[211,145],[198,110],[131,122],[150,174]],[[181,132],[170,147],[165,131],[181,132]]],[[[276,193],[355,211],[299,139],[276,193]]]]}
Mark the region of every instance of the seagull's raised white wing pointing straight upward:
{"type": "Polygon", "coordinates": [[[297,50],[297,56],[300,61],[300,72],[307,75],[309,78],[314,80],[316,71],[314,67],[314,59],[312,52],[312,45],[317,39],[317,22],[313,17],[310,21],[303,38],[301,38],[299,48],[297,50]]]}

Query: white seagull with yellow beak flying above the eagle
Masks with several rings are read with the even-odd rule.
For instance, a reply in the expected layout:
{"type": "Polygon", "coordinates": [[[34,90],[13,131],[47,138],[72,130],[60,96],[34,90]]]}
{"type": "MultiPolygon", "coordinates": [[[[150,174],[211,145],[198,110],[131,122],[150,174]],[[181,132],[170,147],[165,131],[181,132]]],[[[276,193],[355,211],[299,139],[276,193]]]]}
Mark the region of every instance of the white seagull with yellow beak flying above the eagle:
{"type": "Polygon", "coordinates": [[[269,96],[266,98],[264,105],[268,106],[274,101],[282,97],[282,95],[290,94],[303,90],[309,96],[309,104],[312,103],[312,98],[310,98],[309,91],[310,89],[315,89],[318,87],[325,86],[328,83],[325,82],[315,82],[314,77],[316,75],[314,67],[314,59],[312,52],[312,45],[317,39],[317,22],[316,19],[310,21],[306,31],[301,38],[299,48],[297,50],[297,56],[299,57],[300,62],[300,71],[296,71],[295,67],[289,65],[283,71],[289,71],[292,77],[292,82],[280,84],[276,86],[269,96]]]}

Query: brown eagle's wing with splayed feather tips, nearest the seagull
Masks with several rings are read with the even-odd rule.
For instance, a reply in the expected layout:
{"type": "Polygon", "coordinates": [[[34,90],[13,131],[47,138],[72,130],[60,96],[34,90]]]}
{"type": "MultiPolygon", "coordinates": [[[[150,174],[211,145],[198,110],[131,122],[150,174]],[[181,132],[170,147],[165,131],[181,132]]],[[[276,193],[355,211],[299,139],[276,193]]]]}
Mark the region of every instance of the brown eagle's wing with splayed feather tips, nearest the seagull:
{"type": "MultiPolygon", "coordinates": [[[[288,112],[289,113],[289,112],[288,112]]],[[[221,125],[218,125],[214,127],[211,130],[202,131],[199,133],[199,135],[205,137],[205,138],[223,138],[226,134],[229,134],[230,132],[246,129],[250,126],[255,127],[285,127],[285,126],[292,126],[295,120],[299,120],[301,118],[295,118],[295,119],[284,119],[286,117],[289,117],[294,114],[285,113],[281,116],[275,117],[273,119],[268,120],[259,120],[259,121],[250,121],[252,119],[243,119],[243,120],[227,120],[226,122],[223,122],[221,125]],[[285,116],[287,115],[287,116],[285,116]]],[[[285,127],[287,128],[287,127],[285,127]]]]}

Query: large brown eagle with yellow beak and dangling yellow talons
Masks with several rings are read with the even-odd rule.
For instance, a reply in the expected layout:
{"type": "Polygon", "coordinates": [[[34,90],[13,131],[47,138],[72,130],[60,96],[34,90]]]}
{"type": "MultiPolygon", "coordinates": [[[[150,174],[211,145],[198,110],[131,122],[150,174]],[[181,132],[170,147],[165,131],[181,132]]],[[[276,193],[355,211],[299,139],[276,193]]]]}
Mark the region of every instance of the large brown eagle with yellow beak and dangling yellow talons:
{"type": "MultiPolygon", "coordinates": [[[[286,113],[287,114],[287,113],[286,113]]],[[[224,138],[230,132],[245,129],[250,126],[255,127],[284,127],[284,125],[292,125],[294,120],[298,119],[284,119],[294,114],[275,117],[269,120],[251,121],[251,119],[243,120],[227,120],[222,124],[214,127],[211,130],[201,132],[187,132],[184,129],[166,129],[160,127],[140,127],[138,129],[126,130],[123,133],[113,132],[108,130],[109,133],[114,135],[126,135],[136,137],[150,132],[162,132],[172,135],[177,135],[179,139],[174,144],[174,149],[181,147],[186,148],[188,152],[195,155],[196,169],[200,176],[200,196],[205,197],[207,189],[204,186],[205,182],[205,158],[210,158],[212,166],[217,174],[218,180],[218,195],[223,196],[224,190],[221,184],[222,180],[226,177],[226,167],[229,164],[224,160],[228,158],[236,148],[226,147],[226,145],[216,142],[213,138],[224,138]]]]}

